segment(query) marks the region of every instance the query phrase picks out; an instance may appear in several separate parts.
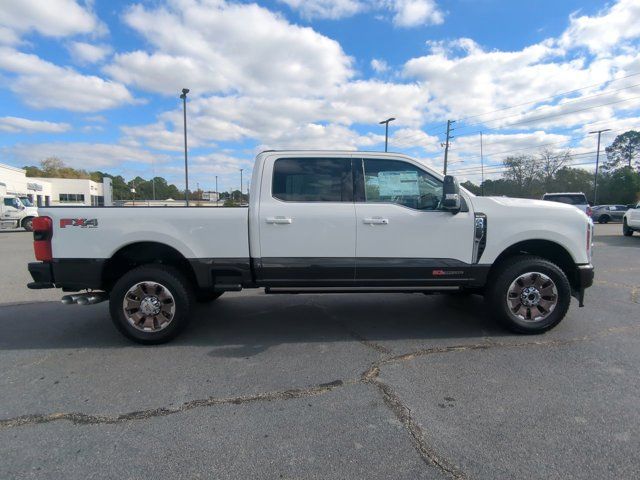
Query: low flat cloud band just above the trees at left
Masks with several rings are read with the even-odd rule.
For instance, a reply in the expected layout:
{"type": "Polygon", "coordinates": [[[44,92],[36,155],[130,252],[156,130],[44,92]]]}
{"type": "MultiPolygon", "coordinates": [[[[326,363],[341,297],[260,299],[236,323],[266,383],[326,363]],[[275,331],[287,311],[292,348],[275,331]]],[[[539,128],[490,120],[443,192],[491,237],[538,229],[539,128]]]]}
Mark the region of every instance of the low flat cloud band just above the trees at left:
{"type": "Polygon", "coordinates": [[[17,144],[4,148],[6,156],[16,164],[37,164],[47,157],[58,157],[65,164],[92,170],[96,168],[118,167],[122,162],[151,164],[166,162],[166,155],[154,155],[151,152],[126,145],[106,143],[55,142],[36,144],[17,144]]]}

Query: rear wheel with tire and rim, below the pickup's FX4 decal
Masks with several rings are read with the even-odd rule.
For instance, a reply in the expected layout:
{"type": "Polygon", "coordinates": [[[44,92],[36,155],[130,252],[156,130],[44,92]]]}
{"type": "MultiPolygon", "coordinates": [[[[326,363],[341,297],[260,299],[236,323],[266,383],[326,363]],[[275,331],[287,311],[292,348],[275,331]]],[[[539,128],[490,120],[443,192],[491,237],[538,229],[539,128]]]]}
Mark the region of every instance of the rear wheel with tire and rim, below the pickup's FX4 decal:
{"type": "Polygon", "coordinates": [[[165,343],[189,323],[193,291],[185,276],[167,265],[143,265],[125,273],[109,296],[116,328],[142,344],[165,343]]]}

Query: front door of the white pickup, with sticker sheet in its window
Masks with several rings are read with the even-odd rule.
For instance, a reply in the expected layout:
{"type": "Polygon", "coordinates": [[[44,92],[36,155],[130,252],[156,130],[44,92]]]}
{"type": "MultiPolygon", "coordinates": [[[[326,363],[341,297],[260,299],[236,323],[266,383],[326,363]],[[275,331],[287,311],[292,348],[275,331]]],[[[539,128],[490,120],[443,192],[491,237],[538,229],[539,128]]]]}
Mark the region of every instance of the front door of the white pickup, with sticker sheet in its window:
{"type": "Polygon", "coordinates": [[[469,279],[473,212],[442,210],[442,181],[417,163],[392,158],[361,162],[356,280],[428,286],[469,279]]]}

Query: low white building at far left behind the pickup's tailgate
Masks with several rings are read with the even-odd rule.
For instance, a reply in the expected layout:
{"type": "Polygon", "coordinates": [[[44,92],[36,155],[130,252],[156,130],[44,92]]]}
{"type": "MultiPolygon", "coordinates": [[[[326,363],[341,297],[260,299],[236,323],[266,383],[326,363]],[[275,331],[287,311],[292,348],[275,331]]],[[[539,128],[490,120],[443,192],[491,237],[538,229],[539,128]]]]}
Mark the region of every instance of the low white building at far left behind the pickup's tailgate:
{"type": "Polygon", "coordinates": [[[102,206],[112,204],[111,179],[104,183],[75,178],[27,177],[22,168],[0,163],[0,183],[7,194],[28,197],[38,206],[78,205],[102,206]]]}

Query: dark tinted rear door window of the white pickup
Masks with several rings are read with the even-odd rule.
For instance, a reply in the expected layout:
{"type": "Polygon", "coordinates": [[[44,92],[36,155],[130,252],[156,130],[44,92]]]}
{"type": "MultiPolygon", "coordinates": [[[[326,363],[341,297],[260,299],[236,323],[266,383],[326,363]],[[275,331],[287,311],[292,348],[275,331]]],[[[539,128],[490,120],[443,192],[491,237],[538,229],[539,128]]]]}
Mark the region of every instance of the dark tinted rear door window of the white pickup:
{"type": "Polygon", "coordinates": [[[272,195],[285,202],[353,202],[350,158],[279,158],[272,195]]]}

